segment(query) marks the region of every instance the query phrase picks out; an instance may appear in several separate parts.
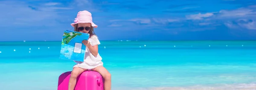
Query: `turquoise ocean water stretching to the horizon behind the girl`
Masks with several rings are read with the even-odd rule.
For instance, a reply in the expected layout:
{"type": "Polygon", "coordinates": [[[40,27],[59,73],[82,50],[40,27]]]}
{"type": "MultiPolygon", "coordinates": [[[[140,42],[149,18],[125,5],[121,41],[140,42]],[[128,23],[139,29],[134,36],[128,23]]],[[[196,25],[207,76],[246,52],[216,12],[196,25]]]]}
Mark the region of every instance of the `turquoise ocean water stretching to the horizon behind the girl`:
{"type": "MultiPolygon", "coordinates": [[[[1,90],[57,90],[61,41],[0,42],[1,90]]],[[[101,41],[112,90],[256,90],[256,41],[101,41]]]]}

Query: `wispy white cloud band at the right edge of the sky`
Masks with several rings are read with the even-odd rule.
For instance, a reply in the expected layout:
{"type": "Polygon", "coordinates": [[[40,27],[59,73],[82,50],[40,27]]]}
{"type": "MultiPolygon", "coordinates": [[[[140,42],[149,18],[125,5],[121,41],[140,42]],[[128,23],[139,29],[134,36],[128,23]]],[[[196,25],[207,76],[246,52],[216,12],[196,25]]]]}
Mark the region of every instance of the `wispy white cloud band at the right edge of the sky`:
{"type": "Polygon", "coordinates": [[[200,21],[198,25],[209,25],[209,22],[214,25],[222,22],[231,29],[256,30],[256,5],[234,10],[220,10],[216,13],[188,15],[186,19],[198,20],[200,21]]]}

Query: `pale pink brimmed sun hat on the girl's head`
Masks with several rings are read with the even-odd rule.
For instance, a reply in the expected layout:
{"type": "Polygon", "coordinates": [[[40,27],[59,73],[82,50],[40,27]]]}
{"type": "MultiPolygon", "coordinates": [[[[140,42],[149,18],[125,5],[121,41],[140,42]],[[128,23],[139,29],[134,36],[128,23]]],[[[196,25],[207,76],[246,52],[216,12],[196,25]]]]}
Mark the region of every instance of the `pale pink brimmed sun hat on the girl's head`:
{"type": "Polygon", "coordinates": [[[70,24],[72,27],[75,27],[78,23],[91,23],[93,27],[97,28],[98,26],[93,23],[92,14],[89,11],[79,11],[74,20],[74,23],[70,24]]]}

